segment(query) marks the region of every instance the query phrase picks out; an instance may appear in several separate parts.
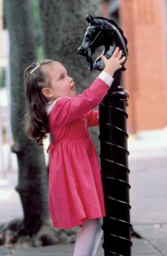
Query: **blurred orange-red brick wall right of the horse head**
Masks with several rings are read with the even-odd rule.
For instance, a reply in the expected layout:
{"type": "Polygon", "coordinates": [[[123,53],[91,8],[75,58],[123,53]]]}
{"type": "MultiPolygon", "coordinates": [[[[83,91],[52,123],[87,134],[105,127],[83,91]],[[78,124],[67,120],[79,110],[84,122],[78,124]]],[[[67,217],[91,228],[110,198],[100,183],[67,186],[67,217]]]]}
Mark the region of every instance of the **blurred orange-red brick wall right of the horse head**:
{"type": "Polygon", "coordinates": [[[163,0],[120,0],[129,59],[123,85],[131,93],[128,131],[167,125],[167,65],[163,0]]]}

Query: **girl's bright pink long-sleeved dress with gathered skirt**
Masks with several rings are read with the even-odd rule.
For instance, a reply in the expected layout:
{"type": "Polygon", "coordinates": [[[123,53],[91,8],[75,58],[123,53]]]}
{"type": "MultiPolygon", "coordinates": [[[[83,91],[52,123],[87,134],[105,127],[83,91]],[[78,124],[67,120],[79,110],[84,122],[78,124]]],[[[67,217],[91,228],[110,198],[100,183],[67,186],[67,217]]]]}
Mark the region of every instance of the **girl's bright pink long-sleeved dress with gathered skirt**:
{"type": "Polygon", "coordinates": [[[109,86],[97,78],[82,94],[61,97],[49,113],[49,211],[54,227],[71,228],[105,216],[99,161],[88,127],[109,86]]]}

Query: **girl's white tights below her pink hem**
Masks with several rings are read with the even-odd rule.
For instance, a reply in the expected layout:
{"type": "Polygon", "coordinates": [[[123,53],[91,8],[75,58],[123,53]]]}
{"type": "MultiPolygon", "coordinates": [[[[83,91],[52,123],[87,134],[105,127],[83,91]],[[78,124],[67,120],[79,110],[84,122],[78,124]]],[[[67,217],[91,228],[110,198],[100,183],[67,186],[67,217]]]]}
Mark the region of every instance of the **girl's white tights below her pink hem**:
{"type": "Polygon", "coordinates": [[[95,256],[102,237],[102,218],[86,220],[74,248],[74,256],[95,256]]]}

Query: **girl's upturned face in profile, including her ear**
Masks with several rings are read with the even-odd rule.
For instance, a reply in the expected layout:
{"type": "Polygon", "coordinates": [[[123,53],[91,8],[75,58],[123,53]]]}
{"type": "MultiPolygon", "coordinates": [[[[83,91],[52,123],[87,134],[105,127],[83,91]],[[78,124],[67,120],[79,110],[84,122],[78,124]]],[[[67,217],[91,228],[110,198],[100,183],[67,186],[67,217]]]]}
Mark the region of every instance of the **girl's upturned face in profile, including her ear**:
{"type": "Polygon", "coordinates": [[[74,81],[67,75],[67,70],[61,63],[54,61],[50,65],[45,65],[42,68],[50,84],[49,87],[42,89],[45,97],[49,100],[54,100],[60,97],[76,96],[74,81]]]}

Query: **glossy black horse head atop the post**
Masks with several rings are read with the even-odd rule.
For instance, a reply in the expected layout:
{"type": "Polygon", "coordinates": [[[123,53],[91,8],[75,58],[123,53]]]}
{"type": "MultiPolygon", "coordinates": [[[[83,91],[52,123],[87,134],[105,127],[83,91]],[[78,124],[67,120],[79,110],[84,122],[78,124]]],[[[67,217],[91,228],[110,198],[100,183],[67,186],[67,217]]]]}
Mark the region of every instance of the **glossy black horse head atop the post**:
{"type": "MultiPolygon", "coordinates": [[[[100,45],[104,45],[102,54],[106,56],[107,59],[111,57],[113,51],[118,46],[127,60],[127,39],[123,35],[122,29],[118,27],[114,20],[103,17],[93,17],[92,14],[86,15],[85,19],[89,22],[89,25],[84,35],[83,44],[79,47],[77,52],[86,57],[90,71],[92,69],[104,69],[104,62],[100,56],[96,58],[96,60],[92,60],[93,53],[100,45]]],[[[125,62],[122,65],[122,71],[126,69],[124,64],[125,62]]]]}

